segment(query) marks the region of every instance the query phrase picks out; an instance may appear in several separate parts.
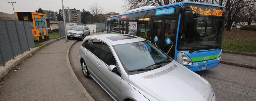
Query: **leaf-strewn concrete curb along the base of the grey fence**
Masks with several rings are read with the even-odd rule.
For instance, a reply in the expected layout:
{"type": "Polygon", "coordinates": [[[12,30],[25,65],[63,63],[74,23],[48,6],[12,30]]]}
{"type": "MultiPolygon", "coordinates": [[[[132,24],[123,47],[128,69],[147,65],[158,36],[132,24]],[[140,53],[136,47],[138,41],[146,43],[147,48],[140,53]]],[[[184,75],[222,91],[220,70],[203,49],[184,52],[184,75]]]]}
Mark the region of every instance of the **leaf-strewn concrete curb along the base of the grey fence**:
{"type": "MultiPolygon", "coordinates": [[[[47,43],[45,43],[45,44],[42,45],[42,46],[39,46],[39,47],[34,48],[34,50],[33,50],[33,49],[31,49],[30,51],[27,50],[27,51],[25,51],[25,52],[22,54],[23,56],[19,57],[19,55],[21,55],[21,54],[15,56],[14,61],[11,62],[11,63],[8,63],[8,62],[10,62],[10,60],[7,61],[7,62],[5,63],[5,66],[1,66],[2,68],[0,68],[0,79],[2,79],[6,74],[8,74],[8,72],[9,72],[12,68],[14,68],[16,65],[18,65],[19,63],[21,63],[21,62],[22,62],[26,57],[28,57],[30,54],[33,54],[34,52],[36,52],[36,51],[42,49],[43,47],[45,47],[45,46],[47,46],[47,45],[49,45],[49,44],[52,44],[53,42],[56,42],[56,41],[58,41],[58,40],[60,40],[60,39],[63,39],[63,38],[65,38],[65,37],[61,37],[61,38],[55,39],[54,41],[47,42],[47,43]]],[[[13,59],[12,59],[12,60],[13,60],[13,59]]]]}

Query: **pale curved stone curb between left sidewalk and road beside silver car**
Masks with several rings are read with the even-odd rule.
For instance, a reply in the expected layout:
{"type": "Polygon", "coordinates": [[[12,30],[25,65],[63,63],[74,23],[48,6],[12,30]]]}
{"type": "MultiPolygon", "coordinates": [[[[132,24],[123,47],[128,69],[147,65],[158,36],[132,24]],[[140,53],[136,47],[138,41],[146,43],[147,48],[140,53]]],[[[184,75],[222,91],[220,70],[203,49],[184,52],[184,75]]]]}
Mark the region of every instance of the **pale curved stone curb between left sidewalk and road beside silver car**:
{"type": "Polygon", "coordinates": [[[82,85],[82,83],[78,80],[78,78],[76,77],[76,74],[75,72],[73,71],[72,69],[72,66],[70,64],[70,61],[69,61],[69,51],[71,49],[71,47],[77,42],[74,41],[68,48],[67,48],[67,53],[66,53],[66,61],[67,61],[67,66],[68,66],[68,69],[73,77],[73,79],[75,80],[78,88],[82,91],[82,93],[84,94],[84,96],[89,100],[89,101],[95,101],[92,96],[85,90],[84,86],[82,85]]]}

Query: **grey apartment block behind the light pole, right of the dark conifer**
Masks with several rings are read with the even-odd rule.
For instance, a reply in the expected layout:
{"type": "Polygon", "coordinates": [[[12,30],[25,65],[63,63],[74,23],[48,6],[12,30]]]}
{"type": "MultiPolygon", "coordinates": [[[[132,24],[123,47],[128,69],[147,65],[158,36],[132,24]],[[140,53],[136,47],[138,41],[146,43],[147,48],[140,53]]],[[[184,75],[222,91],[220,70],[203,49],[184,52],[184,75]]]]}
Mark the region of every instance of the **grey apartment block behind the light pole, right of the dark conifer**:
{"type": "MultiPolygon", "coordinates": [[[[68,12],[68,9],[64,9],[65,11],[65,19],[66,19],[66,22],[81,22],[81,12],[80,10],[76,10],[76,9],[69,9],[69,12],[68,12]],[[69,14],[69,15],[68,15],[69,14]],[[70,16],[70,17],[68,17],[70,16]]],[[[61,13],[61,15],[63,15],[61,13]]]]}

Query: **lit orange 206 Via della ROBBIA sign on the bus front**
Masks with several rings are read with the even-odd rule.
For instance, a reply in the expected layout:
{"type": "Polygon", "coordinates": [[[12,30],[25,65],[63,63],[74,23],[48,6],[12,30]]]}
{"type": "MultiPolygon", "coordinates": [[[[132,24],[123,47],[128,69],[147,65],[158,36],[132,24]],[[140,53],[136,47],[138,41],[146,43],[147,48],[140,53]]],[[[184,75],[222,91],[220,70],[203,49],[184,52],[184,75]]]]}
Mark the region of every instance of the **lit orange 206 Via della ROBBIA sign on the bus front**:
{"type": "Polygon", "coordinates": [[[193,13],[200,13],[202,16],[223,16],[223,10],[202,7],[202,6],[189,6],[192,8],[193,13]]]}

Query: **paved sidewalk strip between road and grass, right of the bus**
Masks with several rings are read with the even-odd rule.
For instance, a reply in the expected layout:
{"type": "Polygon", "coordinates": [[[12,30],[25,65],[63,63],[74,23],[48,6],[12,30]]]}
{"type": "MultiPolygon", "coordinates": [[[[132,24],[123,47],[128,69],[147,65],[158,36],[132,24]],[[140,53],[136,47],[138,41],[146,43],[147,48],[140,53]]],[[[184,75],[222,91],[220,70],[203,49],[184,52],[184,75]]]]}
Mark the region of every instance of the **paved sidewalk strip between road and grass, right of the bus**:
{"type": "Polygon", "coordinates": [[[245,65],[249,67],[256,66],[256,57],[255,56],[248,56],[248,55],[242,55],[242,54],[233,54],[233,53],[223,53],[221,55],[221,62],[226,64],[231,63],[233,64],[240,64],[245,65]]]}

